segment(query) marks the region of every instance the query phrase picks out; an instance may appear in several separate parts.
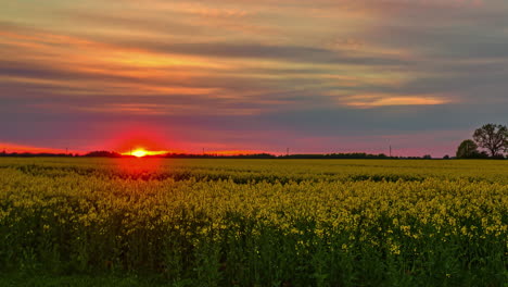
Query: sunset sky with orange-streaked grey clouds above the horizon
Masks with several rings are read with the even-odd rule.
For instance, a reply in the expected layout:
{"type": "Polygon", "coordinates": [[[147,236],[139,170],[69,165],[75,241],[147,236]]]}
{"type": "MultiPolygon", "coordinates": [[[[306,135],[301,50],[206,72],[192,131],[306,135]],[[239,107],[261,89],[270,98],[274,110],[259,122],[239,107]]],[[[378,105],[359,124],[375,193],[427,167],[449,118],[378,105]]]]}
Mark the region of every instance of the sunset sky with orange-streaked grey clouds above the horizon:
{"type": "Polygon", "coordinates": [[[506,0],[16,0],[0,149],[455,154],[508,122],[506,0]]]}

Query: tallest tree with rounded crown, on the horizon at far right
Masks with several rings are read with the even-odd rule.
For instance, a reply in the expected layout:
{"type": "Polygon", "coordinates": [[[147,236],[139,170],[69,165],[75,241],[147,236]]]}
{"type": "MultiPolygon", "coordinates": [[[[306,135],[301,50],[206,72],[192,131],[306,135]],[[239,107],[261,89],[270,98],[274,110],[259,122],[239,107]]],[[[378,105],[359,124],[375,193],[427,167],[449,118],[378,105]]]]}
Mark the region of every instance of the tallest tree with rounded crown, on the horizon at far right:
{"type": "Polygon", "coordinates": [[[474,130],[473,139],[479,147],[488,150],[493,158],[508,150],[508,128],[504,125],[486,124],[474,130]]]}

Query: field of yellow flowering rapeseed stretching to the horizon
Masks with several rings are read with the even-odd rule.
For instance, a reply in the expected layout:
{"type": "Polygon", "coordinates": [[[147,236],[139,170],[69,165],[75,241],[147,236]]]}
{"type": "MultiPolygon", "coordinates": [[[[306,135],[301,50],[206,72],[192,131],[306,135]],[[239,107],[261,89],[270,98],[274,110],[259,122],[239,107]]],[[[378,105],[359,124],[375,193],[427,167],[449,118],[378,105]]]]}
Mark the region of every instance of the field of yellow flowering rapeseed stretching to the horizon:
{"type": "Polygon", "coordinates": [[[507,161],[0,159],[5,274],[506,286],[507,226],[507,161]]]}

